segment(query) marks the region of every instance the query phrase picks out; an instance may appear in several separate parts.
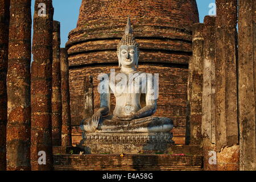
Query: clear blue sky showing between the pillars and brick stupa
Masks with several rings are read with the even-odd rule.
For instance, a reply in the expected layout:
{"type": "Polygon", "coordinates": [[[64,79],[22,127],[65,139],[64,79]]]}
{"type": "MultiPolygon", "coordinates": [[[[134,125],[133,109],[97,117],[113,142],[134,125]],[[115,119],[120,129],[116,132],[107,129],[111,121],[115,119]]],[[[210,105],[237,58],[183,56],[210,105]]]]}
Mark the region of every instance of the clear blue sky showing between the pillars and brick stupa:
{"type": "MultiPolygon", "coordinates": [[[[68,41],[68,33],[76,28],[81,2],[82,0],[53,0],[53,18],[61,23],[61,47],[65,47],[65,43],[68,41]]],[[[199,9],[200,22],[203,22],[204,16],[209,14],[210,3],[215,3],[215,0],[196,0],[196,2],[199,9]]],[[[34,0],[32,0],[31,10],[33,17],[34,0]]]]}

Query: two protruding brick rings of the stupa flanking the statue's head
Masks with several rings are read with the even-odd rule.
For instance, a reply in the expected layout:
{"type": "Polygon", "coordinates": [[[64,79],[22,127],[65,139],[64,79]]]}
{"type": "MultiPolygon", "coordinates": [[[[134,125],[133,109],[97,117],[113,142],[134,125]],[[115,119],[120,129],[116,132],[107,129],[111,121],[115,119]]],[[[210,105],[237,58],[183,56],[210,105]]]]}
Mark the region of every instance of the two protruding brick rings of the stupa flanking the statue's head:
{"type": "MultiPolygon", "coordinates": [[[[191,32],[192,34],[192,32],[191,32]]],[[[139,39],[140,63],[188,64],[192,55],[191,42],[172,39],[139,39]]],[[[192,39],[192,37],[191,37],[192,39]]],[[[117,63],[117,44],[120,39],[82,42],[68,49],[69,66],[117,63]]]]}

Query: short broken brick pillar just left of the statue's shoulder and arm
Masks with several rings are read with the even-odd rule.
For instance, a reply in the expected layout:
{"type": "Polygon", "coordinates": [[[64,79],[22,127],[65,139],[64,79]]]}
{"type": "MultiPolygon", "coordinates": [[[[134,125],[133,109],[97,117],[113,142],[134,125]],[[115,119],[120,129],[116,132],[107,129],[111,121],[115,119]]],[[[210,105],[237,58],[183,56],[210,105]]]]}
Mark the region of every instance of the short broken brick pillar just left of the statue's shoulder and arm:
{"type": "Polygon", "coordinates": [[[85,76],[84,79],[84,111],[82,119],[90,118],[93,115],[93,77],[85,76]]]}

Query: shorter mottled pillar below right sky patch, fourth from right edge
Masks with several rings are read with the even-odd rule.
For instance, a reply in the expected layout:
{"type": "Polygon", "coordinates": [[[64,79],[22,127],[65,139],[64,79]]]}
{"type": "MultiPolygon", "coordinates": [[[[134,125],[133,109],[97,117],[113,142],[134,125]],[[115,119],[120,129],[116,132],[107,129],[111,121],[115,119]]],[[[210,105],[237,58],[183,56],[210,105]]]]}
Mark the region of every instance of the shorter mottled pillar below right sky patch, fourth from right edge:
{"type": "Polygon", "coordinates": [[[203,89],[203,60],[204,60],[204,24],[193,24],[193,55],[191,58],[191,98],[190,98],[190,145],[202,144],[202,89],[203,89]]]}

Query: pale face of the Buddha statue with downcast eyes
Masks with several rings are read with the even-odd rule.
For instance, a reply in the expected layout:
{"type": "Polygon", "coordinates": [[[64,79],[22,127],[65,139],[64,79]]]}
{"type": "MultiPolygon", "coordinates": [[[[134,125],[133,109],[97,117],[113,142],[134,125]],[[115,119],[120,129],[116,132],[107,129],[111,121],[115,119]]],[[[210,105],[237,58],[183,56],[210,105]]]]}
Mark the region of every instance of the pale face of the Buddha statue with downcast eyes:
{"type": "Polygon", "coordinates": [[[122,67],[135,67],[138,60],[138,51],[135,46],[121,46],[118,55],[119,63],[122,67]]]}

